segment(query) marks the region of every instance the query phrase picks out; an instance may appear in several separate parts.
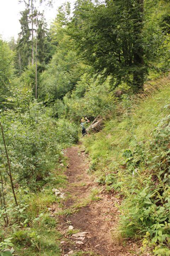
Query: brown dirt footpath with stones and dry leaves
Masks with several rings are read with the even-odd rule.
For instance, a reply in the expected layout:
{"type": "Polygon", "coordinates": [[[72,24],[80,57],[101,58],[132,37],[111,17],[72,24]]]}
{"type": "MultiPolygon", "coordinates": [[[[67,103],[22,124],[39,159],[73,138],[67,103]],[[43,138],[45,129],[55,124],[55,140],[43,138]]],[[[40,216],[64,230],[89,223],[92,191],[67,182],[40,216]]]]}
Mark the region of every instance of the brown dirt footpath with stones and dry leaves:
{"type": "Polygon", "coordinates": [[[119,199],[113,193],[106,193],[87,173],[89,159],[79,146],[65,152],[69,161],[66,171],[69,185],[65,192],[70,197],[64,202],[68,215],[60,216],[60,230],[65,238],[61,241],[62,255],[71,255],[73,251],[83,251],[76,255],[137,255],[135,243],[129,241],[122,245],[113,239],[112,232],[119,222],[120,212],[115,205],[120,203],[119,199]],[[68,231],[69,225],[75,231],[68,231]],[[83,231],[88,232],[84,237],[74,237],[73,233],[83,231]]]}

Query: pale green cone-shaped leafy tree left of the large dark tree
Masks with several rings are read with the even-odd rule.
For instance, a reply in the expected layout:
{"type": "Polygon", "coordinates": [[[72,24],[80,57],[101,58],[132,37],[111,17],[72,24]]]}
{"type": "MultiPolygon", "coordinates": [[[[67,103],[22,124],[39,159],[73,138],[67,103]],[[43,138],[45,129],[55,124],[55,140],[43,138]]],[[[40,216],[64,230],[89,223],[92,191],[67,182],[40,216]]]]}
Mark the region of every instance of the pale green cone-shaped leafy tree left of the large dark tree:
{"type": "Polygon", "coordinates": [[[71,49],[68,36],[63,35],[57,52],[41,76],[40,97],[48,95],[53,100],[62,99],[67,92],[73,90],[80,72],[77,54],[71,49]]]}

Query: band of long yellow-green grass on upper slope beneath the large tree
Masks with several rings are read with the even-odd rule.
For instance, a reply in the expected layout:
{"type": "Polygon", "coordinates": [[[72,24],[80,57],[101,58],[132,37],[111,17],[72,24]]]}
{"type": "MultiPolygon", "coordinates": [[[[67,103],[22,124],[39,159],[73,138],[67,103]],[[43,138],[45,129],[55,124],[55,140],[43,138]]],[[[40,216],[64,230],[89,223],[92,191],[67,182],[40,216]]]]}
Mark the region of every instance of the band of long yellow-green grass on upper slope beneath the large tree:
{"type": "Polygon", "coordinates": [[[130,114],[126,112],[121,121],[119,118],[111,119],[105,123],[101,132],[85,139],[84,144],[92,160],[98,159],[97,170],[103,167],[105,170],[114,170],[115,166],[124,161],[123,150],[133,150],[136,142],[146,141],[147,147],[148,140],[152,139],[152,131],[169,113],[169,109],[164,108],[170,103],[169,85],[170,83],[165,89],[155,92],[144,101],[139,100],[138,106],[136,105],[130,114]]]}

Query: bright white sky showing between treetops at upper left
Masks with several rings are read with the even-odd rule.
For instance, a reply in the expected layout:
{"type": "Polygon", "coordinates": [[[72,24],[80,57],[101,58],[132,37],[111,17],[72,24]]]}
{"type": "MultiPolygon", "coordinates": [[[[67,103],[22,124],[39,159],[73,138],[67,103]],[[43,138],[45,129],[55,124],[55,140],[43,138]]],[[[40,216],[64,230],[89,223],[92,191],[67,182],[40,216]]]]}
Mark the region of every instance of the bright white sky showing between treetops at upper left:
{"type": "MultiPolygon", "coordinates": [[[[57,8],[64,2],[64,0],[53,0],[52,8],[45,5],[40,7],[40,11],[44,10],[48,25],[56,17],[57,8]]],[[[70,0],[72,8],[74,2],[75,0],[70,0]]],[[[19,23],[21,15],[19,12],[24,9],[25,5],[19,4],[18,0],[0,0],[0,35],[2,39],[8,41],[13,36],[17,39],[18,33],[21,32],[19,23]]]]}

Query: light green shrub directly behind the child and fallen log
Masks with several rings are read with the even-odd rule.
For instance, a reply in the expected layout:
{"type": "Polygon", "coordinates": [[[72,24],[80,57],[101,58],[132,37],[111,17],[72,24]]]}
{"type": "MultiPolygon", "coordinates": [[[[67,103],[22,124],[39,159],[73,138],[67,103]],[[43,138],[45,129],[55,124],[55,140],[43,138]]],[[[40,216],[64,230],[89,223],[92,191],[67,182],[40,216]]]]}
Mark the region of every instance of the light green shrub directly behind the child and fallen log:
{"type": "Polygon", "coordinates": [[[80,121],[83,116],[95,118],[98,115],[105,115],[115,108],[117,101],[109,85],[109,77],[104,82],[100,75],[90,79],[87,75],[83,75],[83,79],[85,78],[87,81],[83,92],[84,97],[80,97],[81,93],[78,93],[80,89],[80,84],[78,84],[72,94],[66,94],[63,98],[65,116],[75,122],[80,121]]]}

